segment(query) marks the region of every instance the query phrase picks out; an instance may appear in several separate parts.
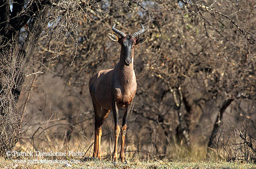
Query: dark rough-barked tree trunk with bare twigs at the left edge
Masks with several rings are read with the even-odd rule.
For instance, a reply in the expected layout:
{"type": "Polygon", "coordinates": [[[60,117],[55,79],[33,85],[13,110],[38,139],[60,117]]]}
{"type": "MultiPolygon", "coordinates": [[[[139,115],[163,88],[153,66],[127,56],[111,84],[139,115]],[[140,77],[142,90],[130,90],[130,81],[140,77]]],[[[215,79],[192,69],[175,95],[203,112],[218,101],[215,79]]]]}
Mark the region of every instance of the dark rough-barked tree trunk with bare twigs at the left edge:
{"type": "Polygon", "coordinates": [[[23,114],[17,100],[24,72],[44,20],[45,0],[0,1],[0,154],[15,146],[23,133],[23,114]]]}

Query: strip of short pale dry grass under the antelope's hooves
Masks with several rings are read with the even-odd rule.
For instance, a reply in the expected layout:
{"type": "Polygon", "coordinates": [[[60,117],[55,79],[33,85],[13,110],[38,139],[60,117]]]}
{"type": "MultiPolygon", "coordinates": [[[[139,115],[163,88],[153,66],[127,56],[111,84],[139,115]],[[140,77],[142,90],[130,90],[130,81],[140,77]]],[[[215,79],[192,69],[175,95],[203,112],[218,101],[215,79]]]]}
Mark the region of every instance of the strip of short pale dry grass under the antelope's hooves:
{"type": "Polygon", "coordinates": [[[250,163],[227,163],[201,161],[197,163],[188,162],[170,162],[168,160],[139,160],[128,163],[111,163],[108,160],[90,160],[81,161],[77,164],[60,164],[60,163],[42,163],[42,164],[21,164],[15,163],[14,160],[4,160],[0,158],[0,168],[2,169],[256,169],[255,164],[250,163]]]}

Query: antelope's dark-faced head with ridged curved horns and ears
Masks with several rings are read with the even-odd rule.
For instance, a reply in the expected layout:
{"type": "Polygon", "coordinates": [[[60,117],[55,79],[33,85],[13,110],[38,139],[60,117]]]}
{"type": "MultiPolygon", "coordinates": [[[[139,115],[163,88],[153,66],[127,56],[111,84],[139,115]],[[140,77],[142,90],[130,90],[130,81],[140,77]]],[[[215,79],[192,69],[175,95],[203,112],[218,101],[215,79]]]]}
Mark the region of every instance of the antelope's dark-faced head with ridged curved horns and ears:
{"type": "Polygon", "coordinates": [[[118,42],[122,48],[121,48],[121,55],[120,55],[120,61],[124,62],[125,66],[129,66],[132,62],[133,55],[134,55],[134,47],[137,44],[143,43],[146,40],[146,37],[140,37],[139,35],[145,32],[144,26],[141,24],[142,29],[138,32],[134,32],[131,35],[126,35],[124,32],[119,31],[115,28],[115,25],[113,25],[112,30],[113,32],[119,34],[121,37],[117,37],[114,34],[108,33],[108,37],[118,42]]]}

